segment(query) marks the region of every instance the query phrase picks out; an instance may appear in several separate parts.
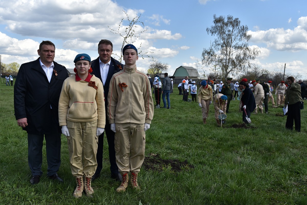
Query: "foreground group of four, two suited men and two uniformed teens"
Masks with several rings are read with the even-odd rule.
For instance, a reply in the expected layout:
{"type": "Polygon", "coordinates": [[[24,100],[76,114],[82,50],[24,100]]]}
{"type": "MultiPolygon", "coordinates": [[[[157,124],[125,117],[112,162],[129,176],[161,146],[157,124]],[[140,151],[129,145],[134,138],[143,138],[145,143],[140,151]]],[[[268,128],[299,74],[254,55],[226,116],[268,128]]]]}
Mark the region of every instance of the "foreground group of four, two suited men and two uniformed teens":
{"type": "MultiPolygon", "coordinates": [[[[37,60],[22,64],[14,86],[14,109],[18,126],[28,133],[31,184],[43,174],[42,147],[45,137],[47,175],[63,182],[60,168],[61,133],[67,137],[70,167],[76,178],[73,196],[94,193],[91,182],[99,178],[106,132],[111,178],[120,181],[116,191],[129,184],[139,189],[138,172],[145,157],[145,131],[153,119],[150,81],[137,70],[134,45],[122,49],[125,64],[111,57],[113,44],[101,40],[99,57],[86,53],[74,59],[75,74],[54,61],[55,45],[42,41],[37,60]],[[39,81],[29,81],[32,78],[39,81]],[[132,106],[133,104],[133,106],[132,106]]],[[[167,94],[167,92],[165,91],[167,94]]]]}

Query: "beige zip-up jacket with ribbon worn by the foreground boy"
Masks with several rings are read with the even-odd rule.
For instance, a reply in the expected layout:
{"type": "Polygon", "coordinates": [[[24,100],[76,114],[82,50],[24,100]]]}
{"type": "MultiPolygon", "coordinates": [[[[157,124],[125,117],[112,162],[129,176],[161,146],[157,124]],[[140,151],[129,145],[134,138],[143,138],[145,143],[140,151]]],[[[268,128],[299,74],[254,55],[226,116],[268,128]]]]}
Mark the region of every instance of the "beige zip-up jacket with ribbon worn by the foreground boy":
{"type": "Polygon", "coordinates": [[[151,123],[153,99],[144,73],[124,66],[110,81],[107,118],[109,123],[151,123]]]}

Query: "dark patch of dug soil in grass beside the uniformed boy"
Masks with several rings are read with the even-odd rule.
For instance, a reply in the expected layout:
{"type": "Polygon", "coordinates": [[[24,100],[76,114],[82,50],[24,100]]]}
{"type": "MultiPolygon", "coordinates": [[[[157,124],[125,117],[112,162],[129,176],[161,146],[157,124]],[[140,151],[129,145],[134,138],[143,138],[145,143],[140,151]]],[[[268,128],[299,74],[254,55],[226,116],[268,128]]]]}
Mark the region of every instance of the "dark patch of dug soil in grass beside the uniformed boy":
{"type": "Polygon", "coordinates": [[[160,158],[159,154],[153,154],[150,153],[149,157],[145,157],[144,163],[142,167],[146,170],[155,170],[155,171],[162,171],[163,168],[168,168],[170,166],[172,171],[175,172],[181,172],[182,168],[194,168],[193,165],[188,164],[188,160],[185,160],[184,162],[180,162],[177,159],[170,159],[170,160],[164,160],[160,158]]]}

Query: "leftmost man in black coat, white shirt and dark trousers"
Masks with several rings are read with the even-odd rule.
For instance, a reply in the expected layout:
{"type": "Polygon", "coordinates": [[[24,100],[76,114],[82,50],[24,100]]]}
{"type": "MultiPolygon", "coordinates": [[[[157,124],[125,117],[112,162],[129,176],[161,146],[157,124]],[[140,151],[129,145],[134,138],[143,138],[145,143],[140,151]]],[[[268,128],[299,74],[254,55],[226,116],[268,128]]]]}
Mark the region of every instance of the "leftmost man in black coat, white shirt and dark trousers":
{"type": "Polygon", "coordinates": [[[28,133],[28,163],[37,184],[43,174],[42,147],[45,135],[47,175],[63,182],[56,173],[61,164],[61,128],[58,103],[64,80],[68,77],[64,66],[53,61],[55,45],[42,41],[37,60],[22,64],[14,85],[14,109],[18,126],[28,133]]]}

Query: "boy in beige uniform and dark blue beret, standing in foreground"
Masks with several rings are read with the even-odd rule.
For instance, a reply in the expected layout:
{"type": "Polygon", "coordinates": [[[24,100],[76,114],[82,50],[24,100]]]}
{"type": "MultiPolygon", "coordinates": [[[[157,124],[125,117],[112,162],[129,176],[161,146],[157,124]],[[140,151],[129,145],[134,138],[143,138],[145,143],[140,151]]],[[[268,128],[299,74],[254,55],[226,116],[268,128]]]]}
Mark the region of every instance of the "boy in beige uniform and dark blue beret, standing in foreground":
{"type": "Polygon", "coordinates": [[[145,157],[145,131],[153,119],[153,99],[145,73],[136,69],[138,51],[132,44],[123,49],[125,65],[110,81],[107,117],[115,132],[115,157],[122,183],[117,192],[126,191],[129,182],[138,187],[138,172],[145,157]]]}

